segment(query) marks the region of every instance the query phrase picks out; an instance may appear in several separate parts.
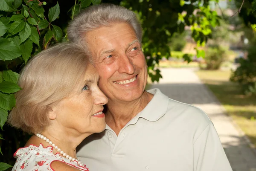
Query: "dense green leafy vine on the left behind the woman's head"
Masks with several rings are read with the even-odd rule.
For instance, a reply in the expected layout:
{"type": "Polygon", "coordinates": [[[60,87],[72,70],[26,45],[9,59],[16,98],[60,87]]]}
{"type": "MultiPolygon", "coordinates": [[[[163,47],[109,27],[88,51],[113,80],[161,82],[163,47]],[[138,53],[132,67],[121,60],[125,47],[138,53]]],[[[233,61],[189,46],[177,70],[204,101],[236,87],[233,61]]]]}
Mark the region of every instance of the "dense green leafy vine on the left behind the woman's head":
{"type": "MultiPolygon", "coordinates": [[[[100,0],[79,0],[77,13],[91,3],[98,4],[100,0]]],[[[73,1],[75,3],[75,1],[73,1]]],[[[66,41],[63,38],[63,28],[57,26],[61,10],[58,2],[52,7],[46,7],[46,2],[39,0],[1,0],[0,1],[0,128],[7,132],[17,132],[13,128],[5,126],[9,110],[15,106],[13,93],[20,90],[17,85],[18,73],[29,61],[29,58],[42,49],[47,49],[50,44],[66,41]]],[[[74,8],[72,9],[74,11],[74,8]]],[[[67,14],[67,12],[64,12],[67,14]]],[[[73,18],[74,13],[68,14],[66,23],[73,18]]],[[[66,36],[65,36],[66,37],[66,36]]],[[[12,133],[13,134],[13,133],[12,133]]],[[[23,139],[15,133],[14,148],[6,148],[5,141],[1,145],[4,148],[4,161],[10,162],[13,150],[24,145],[23,139]],[[18,139],[20,140],[18,140],[18,139]],[[10,151],[12,150],[12,151],[10,151]],[[6,159],[7,158],[7,159],[6,159]]],[[[0,139],[10,139],[8,133],[0,133],[0,139]]],[[[21,137],[21,136],[20,136],[21,137]]],[[[29,137],[29,136],[26,136],[29,137]]],[[[9,140],[9,142],[12,142],[9,140]]],[[[2,154],[1,148],[0,152],[2,154]]],[[[14,164],[12,162],[12,164],[14,164]]],[[[0,171],[12,167],[6,163],[0,163],[0,171]]]]}

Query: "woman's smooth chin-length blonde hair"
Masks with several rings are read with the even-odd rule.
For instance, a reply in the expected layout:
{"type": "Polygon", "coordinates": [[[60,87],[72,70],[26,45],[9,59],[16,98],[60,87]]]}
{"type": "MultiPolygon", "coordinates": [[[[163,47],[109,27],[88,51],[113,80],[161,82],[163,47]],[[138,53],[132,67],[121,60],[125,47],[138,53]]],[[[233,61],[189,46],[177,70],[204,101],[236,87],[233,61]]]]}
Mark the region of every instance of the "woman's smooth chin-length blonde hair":
{"type": "Polygon", "coordinates": [[[20,73],[22,90],[15,94],[16,106],[8,123],[28,133],[41,133],[49,125],[51,107],[74,92],[88,64],[84,49],[73,43],[60,43],[38,53],[20,73]]]}

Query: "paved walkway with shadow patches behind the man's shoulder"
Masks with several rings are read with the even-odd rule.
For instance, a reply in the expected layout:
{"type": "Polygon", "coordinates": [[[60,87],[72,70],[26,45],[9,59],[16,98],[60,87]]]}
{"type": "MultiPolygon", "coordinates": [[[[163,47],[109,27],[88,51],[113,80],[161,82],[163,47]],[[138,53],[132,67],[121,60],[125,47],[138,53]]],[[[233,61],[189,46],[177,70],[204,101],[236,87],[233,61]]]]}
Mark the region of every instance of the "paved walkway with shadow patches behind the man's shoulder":
{"type": "MultiPolygon", "coordinates": [[[[212,120],[233,171],[256,171],[256,154],[224,108],[192,69],[161,69],[163,79],[150,88],[159,88],[172,99],[203,109],[212,120]]],[[[232,100],[232,99],[230,99],[232,100]]]]}

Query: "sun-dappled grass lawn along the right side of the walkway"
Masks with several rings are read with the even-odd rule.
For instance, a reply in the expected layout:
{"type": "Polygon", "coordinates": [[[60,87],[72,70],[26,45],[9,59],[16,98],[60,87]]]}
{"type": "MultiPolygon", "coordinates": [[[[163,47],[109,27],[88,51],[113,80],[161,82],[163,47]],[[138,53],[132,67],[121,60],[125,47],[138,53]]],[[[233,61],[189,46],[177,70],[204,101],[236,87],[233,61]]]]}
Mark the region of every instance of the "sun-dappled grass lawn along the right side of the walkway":
{"type": "Polygon", "coordinates": [[[230,82],[230,71],[199,70],[196,73],[256,146],[256,97],[245,96],[238,84],[230,82]]]}

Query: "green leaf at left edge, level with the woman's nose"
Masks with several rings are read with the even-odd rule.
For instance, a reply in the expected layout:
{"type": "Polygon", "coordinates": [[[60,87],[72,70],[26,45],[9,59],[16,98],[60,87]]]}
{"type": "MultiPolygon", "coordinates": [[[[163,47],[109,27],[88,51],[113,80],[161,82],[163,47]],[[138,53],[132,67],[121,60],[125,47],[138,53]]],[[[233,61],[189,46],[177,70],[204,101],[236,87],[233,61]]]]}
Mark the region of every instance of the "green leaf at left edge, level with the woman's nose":
{"type": "Polygon", "coordinates": [[[16,100],[14,94],[0,93],[0,107],[5,110],[11,110],[15,106],[16,100]]]}

